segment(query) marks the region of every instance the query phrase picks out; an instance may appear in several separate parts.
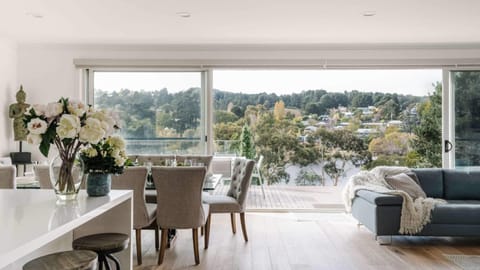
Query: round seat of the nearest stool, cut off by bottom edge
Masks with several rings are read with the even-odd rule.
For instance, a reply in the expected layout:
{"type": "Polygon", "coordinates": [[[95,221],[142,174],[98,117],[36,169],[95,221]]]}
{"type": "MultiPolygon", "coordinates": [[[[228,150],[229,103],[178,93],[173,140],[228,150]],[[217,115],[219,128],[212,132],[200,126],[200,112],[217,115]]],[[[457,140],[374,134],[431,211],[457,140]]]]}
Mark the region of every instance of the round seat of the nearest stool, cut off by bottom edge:
{"type": "Polygon", "coordinates": [[[97,253],[89,250],[62,251],[38,257],[23,266],[24,270],[93,270],[97,253]]]}

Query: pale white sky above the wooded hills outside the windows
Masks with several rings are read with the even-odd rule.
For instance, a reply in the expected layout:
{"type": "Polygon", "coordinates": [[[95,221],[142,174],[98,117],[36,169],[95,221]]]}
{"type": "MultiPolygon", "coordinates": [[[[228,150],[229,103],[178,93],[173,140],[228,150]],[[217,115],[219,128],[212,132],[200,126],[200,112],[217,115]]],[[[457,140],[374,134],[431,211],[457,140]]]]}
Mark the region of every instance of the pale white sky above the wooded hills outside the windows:
{"type": "MultiPolygon", "coordinates": [[[[421,70],[214,70],[213,88],[241,93],[300,93],[324,89],[328,92],[398,93],[425,96],[432,84],[442,80],[440,69],[421,70]]],[[[95,89],[107,91],[159,90],[178,92],[200,87],[199,72],[96,72],[95,89]]]]}

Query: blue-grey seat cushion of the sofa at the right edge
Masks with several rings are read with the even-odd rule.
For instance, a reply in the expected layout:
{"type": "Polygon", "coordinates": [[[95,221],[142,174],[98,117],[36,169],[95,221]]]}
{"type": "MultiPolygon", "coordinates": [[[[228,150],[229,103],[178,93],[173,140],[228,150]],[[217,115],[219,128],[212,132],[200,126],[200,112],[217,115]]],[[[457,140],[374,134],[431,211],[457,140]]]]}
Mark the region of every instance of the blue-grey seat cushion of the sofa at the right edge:
{"type": "Polygon", "coordinates": [[[432,224],[480,225],[480,201],[448,200],[432,211],[432,224]]]}

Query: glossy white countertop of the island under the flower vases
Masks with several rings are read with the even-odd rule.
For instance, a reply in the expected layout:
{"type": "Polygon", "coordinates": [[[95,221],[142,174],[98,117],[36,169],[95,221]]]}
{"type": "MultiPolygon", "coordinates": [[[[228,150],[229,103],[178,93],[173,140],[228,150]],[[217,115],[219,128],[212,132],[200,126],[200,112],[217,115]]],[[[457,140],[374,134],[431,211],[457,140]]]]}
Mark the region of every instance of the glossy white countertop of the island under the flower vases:
{"type": "Polygon", "coordinates": [[[57,203],[53,190],[0,189],[0,269],[131,198],[130,190],[57,203]]]}

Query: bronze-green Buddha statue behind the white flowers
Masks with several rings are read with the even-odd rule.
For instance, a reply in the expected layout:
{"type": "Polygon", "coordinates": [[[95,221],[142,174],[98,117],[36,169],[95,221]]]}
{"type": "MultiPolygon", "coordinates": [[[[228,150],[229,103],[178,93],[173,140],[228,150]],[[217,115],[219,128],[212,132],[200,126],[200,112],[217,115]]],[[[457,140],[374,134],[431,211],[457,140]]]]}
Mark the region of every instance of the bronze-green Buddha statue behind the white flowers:
{"type": "Polygon", "coordinates": [[[27,139],[27,128],[23,123],[23,115],[27,111],[30,104],[25,103],[27,98],[25,91],[23,91],[23,86],[20,85],[20,90],[18,90],[17,103],[13,103],[9,108],[9,117],[13,118],[13,133],[15,141],[25,141],[27,139]]]}

